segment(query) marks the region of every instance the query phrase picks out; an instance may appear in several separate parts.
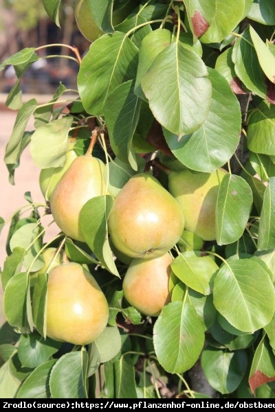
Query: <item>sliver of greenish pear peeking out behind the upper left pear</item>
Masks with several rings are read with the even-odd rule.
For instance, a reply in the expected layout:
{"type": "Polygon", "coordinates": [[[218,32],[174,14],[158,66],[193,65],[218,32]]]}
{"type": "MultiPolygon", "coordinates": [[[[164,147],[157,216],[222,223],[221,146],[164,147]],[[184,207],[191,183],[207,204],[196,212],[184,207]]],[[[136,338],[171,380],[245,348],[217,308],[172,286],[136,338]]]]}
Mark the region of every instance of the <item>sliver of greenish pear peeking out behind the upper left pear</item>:
{"type": "Polygon", "coordinates": [[[76,157],[76,152],[73,149],[70,149],[66,153],[66,161],[64,166],[60,168],[47,168],[41,170],[39,174],[39,185],[46,201],[50,201],[54,187],[56,187],[56,184],[60,181],[63,174],[69,168],[69,165],[72,164],[72,161],[76,159],[76,157]]]}

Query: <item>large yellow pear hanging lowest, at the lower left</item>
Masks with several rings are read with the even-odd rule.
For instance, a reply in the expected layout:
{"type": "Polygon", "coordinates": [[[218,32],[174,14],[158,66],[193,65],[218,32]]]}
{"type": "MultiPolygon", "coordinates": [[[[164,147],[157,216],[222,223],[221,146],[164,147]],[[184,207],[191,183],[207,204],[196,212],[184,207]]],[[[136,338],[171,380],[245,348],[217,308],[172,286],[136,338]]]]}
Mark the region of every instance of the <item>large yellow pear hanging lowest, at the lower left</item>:
{"type": "Polygon", "coordinates": [[[46,313],[48,337],[87,345],[106,327],[109,306],[91,273],[80,264],[69,262],[49,273],[46,313]]]}

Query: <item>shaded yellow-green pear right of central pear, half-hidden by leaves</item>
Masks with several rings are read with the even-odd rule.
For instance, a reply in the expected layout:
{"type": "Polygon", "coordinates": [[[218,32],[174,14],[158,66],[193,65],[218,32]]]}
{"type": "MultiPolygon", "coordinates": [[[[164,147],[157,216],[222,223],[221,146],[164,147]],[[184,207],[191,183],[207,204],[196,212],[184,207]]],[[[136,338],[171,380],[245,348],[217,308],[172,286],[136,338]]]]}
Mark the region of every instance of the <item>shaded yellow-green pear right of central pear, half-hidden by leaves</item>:
{"type": "Polygon", "coordinates": [[[216,239],[217,196],[226,173],[221,168],[213,173],[189,169],[168,172],[168,190],[184,212],[184,229],[202,240],[216,239]]]}

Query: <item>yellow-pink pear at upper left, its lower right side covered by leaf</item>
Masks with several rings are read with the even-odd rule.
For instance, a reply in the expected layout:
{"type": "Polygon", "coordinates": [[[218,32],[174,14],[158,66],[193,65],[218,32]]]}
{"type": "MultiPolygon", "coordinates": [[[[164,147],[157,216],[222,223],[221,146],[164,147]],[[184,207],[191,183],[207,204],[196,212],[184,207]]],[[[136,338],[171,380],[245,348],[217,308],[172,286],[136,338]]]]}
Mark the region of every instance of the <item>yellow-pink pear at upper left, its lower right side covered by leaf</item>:
{"type": "Polygon", "coordinates": [[[65,235],[85,242],[79,214],[87,201],[106,194],[104,163],[90,154],[78,156],[54,187],[50,199],[52,216],[65,235]]]}

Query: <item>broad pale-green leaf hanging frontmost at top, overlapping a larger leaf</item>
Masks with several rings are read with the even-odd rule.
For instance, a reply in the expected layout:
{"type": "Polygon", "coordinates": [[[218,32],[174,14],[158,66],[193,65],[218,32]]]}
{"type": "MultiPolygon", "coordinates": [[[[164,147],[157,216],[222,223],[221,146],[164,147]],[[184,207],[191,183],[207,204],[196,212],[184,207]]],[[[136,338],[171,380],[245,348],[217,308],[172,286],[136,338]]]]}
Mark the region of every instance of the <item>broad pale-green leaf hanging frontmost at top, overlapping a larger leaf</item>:
{"type": "Polygon", "coordinates": [[[157,121],[181,137],[206,119],[212,85],[203,60],[190,47],[172,43],[160,52],[141,81],[157,121]]]}

